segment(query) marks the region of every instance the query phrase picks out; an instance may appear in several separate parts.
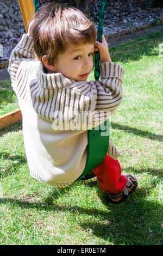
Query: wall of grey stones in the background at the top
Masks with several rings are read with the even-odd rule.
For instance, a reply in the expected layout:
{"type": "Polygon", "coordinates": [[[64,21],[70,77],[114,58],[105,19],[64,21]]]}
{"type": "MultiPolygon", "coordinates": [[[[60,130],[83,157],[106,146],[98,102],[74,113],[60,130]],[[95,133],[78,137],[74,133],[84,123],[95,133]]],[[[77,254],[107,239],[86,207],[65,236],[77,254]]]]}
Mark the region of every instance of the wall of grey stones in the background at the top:
{"type": "MultiPolygon", "coordinates": [[[[76,1],[40,0],[40,6],[48,2],[74,5],[76,1]]],[[[155,19],[154,17],[161,19],[161,11],[163,9],[156,8],[151,14],[147,10],[151,5],[152,0],[108,0],[105,7],[104,34],[119,33],[129,28],[142,26],[145,23],[151,22],[155,19]],[[143,10],[143,8],[146,10],[143,10]]],[[[92,0],[90,17],[95,22],[96,28],[98,25],[99,7],[100,1],[92,0]]],[[[26,30],[18,0],[0,0],[0,44],[3,45],[4,56],[9,57],[12,48],[20,41],[24,33],[26,33],[26,30]]]]}

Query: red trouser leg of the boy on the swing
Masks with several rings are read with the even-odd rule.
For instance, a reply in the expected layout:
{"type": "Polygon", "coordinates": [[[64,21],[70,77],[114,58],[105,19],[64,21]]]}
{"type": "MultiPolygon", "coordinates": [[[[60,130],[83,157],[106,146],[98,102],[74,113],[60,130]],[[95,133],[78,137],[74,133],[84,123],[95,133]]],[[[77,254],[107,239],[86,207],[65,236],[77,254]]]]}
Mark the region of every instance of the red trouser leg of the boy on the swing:
{"type": "Polygon", "coordinates": [[[93,173],[97,176],[99,187],[107,193],[120,193],[126,186],[127,179],[121,175],[120,163],[108,155],[93,169],[93,173]]]}

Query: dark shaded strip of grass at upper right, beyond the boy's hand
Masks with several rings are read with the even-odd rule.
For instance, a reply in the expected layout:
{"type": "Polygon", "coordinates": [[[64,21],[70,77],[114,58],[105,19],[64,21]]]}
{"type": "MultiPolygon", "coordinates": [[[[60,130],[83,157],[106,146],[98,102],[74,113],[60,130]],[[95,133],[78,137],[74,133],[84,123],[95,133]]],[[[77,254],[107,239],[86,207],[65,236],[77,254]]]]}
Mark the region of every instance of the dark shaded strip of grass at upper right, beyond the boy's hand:
{"type": "Polygon", "coordinates": [[[159,56],[158,48],[162,42],[163,30],[141,36],[126,44],[112,47],[110,49],[112,62],[121,61],[122,63],[127,63],[129,60],[139,60],[143,56],[159,56]],[[142,42],[142,40],[147,41],[142,42]]]}

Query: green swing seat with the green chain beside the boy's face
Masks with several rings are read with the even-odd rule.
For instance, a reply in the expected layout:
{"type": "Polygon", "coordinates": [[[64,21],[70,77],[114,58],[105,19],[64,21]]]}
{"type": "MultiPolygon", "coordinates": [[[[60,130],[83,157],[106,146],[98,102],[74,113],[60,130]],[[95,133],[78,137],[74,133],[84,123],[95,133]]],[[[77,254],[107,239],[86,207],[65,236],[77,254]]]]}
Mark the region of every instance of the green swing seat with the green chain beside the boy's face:
{"type": "MultiPolygon", "coordinates": [[[[97,32],[97,41],[101,42],[103,35],[103,22],[104,22],[104,8],[107,0],[101,0],[101,7],[99,11],[99,23],[98,23],[98,32],[97,32]]],[[[99,51],[96,52],[95,56],[95,79],[99,80],[100,71],[99,71],[99,51]]],[[[91,170],[101,164],[106,156],[109,146],[109,136],[102,136],[102,133],[106,130],[108,131],[110,128],[109,119],[105,120],[103,124],[96,126],[92,130],[88,131],[88,153],[87,153],[87,161],[84,172],[79,176],[81,179],[87,173],[91,172],[91,170]],[[109,126],[109,127],[107,127],[109,126]]]]}

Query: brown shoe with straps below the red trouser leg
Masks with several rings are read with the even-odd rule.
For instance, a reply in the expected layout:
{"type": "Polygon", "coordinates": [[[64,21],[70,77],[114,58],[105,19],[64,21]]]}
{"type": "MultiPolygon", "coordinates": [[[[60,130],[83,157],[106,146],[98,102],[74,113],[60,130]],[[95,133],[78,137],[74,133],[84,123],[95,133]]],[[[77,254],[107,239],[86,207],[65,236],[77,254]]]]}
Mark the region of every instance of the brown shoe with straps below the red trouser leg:
{"type": "Polygon", "coordinates": [[[108,194],[106,200],[113,204],[121,203],[124,199],[126,199],[131,193],[134,192],[135,188],[137,187],[137,180],[133,174],[122,173],[123,176],[127,178],[127,184],[124,190],[117,194],[108,194]]]}

